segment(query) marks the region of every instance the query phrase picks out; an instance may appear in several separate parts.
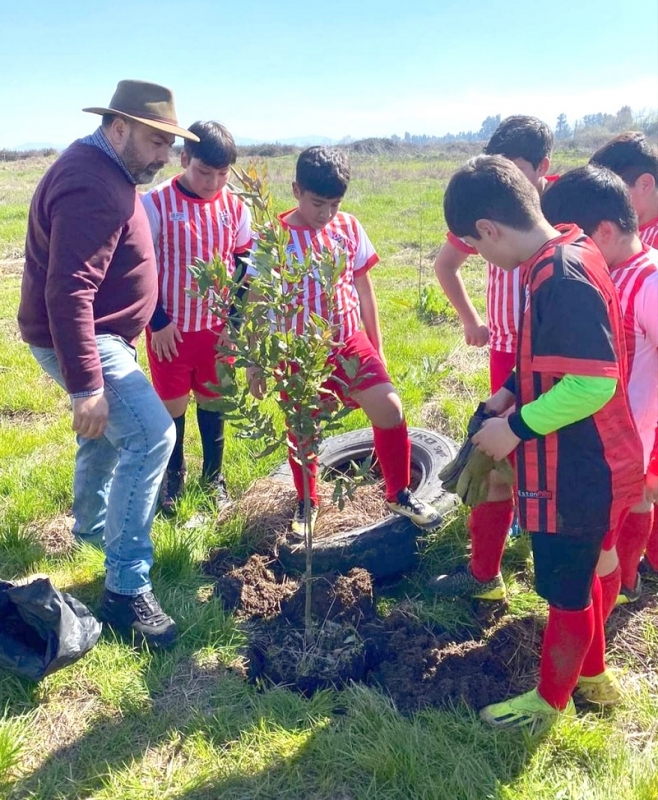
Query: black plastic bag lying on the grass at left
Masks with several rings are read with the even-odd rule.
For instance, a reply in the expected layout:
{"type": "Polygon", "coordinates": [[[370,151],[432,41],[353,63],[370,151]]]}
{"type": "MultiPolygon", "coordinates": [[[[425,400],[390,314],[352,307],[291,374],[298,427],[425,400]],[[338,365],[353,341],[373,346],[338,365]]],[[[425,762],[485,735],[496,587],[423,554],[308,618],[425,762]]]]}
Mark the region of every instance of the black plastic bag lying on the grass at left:
{"type": "Polygon", "coordinates": [[[0,581],[0,667],[38,681],[96,644],[101,623],[48,577],[0,581]]]}

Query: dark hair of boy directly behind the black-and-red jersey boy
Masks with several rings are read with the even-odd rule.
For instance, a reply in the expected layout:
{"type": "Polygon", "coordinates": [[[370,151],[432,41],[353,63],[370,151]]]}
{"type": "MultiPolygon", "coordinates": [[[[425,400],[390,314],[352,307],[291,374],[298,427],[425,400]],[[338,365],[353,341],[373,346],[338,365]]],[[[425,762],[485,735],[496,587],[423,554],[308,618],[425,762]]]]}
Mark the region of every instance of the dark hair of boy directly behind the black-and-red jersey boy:
{"type": "Polygon", "coordinates": [[[595,164],[565,172],[544,192],[541,208],[551,225],[573,222],[588,236],[602,222],[614,222],[624,233],[637,231],[637,214],[624,181],[595,164]]]}

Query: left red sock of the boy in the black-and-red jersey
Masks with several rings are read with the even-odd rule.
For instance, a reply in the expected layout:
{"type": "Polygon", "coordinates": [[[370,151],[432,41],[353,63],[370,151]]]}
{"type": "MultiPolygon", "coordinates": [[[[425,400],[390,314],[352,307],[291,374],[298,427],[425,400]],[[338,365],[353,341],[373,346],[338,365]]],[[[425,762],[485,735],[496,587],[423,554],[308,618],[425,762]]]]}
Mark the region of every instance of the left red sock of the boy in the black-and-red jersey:
{"type": "Polygon", "coordinates": [[[539,663],[539,694],[554,708],[567,707],[594,635],[594,609],[548,607],[548,624],[539,663]]]}

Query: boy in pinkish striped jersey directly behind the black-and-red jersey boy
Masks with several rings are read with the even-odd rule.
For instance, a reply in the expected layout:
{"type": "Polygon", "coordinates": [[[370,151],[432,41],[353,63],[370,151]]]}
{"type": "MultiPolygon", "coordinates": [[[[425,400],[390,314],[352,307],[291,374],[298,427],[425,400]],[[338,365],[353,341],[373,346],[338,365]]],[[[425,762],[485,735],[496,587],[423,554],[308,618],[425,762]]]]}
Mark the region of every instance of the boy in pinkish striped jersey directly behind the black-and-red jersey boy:
{"type": "Polygon", "coordinates": [[[623,180],[604,167],[590,164],[567,172],[544,195],[542,209],[552,224],[574,222],[598,246],[617,288],[624,319],[628,396],[644,450],[646,490],[619,531],[616,570],[601,577],[602,584],[610,581],[612,587],[614,581],[617,586],[607,597],[609,607],[604,612],[609,613],[615,600],[620,605],[640,596],[638,565],[651,533],[650,498],[658,488],[658,251],[640,240],[629,192],[623,180]]]}

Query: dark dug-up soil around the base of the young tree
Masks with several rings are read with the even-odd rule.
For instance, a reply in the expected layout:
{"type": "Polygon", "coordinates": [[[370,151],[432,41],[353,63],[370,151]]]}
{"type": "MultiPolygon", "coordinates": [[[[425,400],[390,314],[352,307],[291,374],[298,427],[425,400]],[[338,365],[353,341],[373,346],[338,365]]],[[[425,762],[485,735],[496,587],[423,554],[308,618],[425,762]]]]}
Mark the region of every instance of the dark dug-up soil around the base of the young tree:
{"type": "Polygon", "coordinates": [[[404,605],[377,615],[363,569],[314,578],[313,640],[304,634],[301,581],[278,574],[265,556],[236,565],[220,554],[216,594],[245,625],[251,680],[310,695],[363,681],[381,687],[402,712],[459,701],[478,709],[526,691],[537,679],[541,623],[497,621],[487,604],[477,630],[448,633],[421,623],[404,605]]]}

